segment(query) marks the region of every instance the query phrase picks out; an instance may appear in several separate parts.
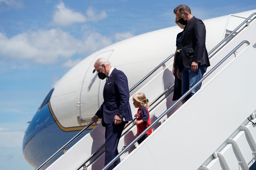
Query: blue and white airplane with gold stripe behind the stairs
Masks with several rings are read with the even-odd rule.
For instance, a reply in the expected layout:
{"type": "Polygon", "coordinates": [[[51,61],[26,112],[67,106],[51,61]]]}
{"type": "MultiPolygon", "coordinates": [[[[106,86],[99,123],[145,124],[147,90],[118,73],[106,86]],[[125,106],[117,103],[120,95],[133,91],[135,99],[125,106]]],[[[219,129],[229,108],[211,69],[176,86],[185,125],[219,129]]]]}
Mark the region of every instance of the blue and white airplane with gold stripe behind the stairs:
{"type": "MultiPolygon", "coordinates": [[[[204,20],[208,51],[253,12],[256,10],[204,20]]],[[[28,125],[22,146],[26,161],[38,167],[91,122],[103,102],[105,83],[98,79],[93,67],[97,58],[107,58],[113,67],[122,70],[131,88],[175,52],[176,35],[181,31],[173,26],[125,39],[85,57],[69,70],[47,94],[28,125]]],[[[174,82],[173,75],[168,76],[174,82]]],[[[135,108],[132,111],[136,112],[135,108]]],[[[96,126],[91,126],[83,136],[96,126]]]]}

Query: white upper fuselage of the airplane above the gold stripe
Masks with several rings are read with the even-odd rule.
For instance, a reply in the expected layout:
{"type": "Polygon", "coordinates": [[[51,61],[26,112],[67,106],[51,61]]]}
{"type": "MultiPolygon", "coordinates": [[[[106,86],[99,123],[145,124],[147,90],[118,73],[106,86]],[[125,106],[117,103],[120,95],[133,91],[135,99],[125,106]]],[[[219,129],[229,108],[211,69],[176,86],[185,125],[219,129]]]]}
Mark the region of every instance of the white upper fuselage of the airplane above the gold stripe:
{"type": "MultiPolygon", "coordinates": [[[[252,12],[235,15],[247,17],[252,12]]],[[[208,52],[224,38],[226,29],[232,31],[243,20],[238,17],[229,19],[229,15],[205,20],[208,52]]],[[[176,35],[181,31],[178,26],[173,26],[125,39],[93,53],[74,66],[55,85],[50,100],[53,113],[61,126],[66,131],[69,131],[69,127],[80,127],[78,117],[90,120],[103,102],[105,81],[101,81],[93,72],[97,58],[107,58],[112,67],[125,72],[131,88],[165,58],[175,53],[176,35]]]]}

